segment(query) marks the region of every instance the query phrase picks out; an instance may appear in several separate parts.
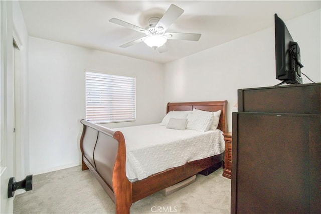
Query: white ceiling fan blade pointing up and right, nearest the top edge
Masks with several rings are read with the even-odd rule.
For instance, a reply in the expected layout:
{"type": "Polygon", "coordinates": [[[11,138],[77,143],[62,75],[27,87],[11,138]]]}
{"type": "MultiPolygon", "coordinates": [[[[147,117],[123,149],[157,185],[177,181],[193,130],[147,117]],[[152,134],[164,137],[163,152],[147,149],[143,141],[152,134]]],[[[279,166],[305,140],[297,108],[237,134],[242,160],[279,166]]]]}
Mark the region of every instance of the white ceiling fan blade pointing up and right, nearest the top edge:
{"type": "Polygon", "coordinates": [[[184,10],[176,5],[170,5],[163,17],[159,20],[156,25],[156,29],[163,28],[162,30],[168,29],[170,25],[183,14],[184,10]]]}

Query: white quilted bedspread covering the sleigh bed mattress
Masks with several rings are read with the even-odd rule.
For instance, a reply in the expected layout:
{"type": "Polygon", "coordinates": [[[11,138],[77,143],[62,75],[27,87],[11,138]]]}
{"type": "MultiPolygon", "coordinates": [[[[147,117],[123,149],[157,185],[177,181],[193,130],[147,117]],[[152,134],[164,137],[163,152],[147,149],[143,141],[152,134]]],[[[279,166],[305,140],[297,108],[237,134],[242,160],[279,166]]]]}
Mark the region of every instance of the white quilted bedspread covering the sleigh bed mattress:
{"type": "Polygon", "coordinates": [[[225,150],[220,130],[198,132],[167,129],[160,124],[117,128],[126,141],[126,175],[142,180],[166,169],[221,154],[225,150]]]}

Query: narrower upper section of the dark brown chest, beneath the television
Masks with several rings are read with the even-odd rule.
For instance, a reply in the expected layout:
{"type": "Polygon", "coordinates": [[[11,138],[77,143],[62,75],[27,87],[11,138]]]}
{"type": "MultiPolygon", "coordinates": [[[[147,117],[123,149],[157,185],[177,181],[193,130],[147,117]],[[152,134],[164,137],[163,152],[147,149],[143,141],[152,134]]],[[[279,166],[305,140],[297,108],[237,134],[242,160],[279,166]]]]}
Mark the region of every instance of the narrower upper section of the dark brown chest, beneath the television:
{"type": "Polygon", "coordinates": [[[239,89],[238,112],[320,114],[321,83],[239,89]]]}

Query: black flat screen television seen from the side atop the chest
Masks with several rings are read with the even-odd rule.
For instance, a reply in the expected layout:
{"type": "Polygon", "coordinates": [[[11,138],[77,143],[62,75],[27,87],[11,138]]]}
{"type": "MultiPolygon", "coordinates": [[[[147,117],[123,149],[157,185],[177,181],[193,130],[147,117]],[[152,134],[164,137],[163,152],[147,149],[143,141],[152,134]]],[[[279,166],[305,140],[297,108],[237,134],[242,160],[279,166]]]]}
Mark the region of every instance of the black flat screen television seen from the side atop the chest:
{"type": "Polygon", "coordinates": [[[302,84],[301,53],[299,45],[294,42],[289,30],[281,18],[275,18],[275,64],[276,79],[287,84],[302,84]]]}

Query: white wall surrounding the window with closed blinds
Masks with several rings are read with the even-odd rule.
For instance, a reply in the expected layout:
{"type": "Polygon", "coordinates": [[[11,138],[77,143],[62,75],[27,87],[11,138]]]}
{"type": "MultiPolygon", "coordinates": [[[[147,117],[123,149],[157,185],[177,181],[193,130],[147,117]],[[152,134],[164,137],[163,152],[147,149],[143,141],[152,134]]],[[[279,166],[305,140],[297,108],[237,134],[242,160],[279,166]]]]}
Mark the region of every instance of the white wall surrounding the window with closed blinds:
{"type": "Polygon", "coordinates": [[[161,64],[30,37],[30,171],[34,174],[80,164],[85,69],[136,76],[137,120],[108,127],[157,123],[163,117],[161,64]]]}

